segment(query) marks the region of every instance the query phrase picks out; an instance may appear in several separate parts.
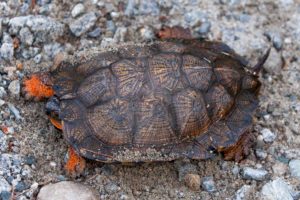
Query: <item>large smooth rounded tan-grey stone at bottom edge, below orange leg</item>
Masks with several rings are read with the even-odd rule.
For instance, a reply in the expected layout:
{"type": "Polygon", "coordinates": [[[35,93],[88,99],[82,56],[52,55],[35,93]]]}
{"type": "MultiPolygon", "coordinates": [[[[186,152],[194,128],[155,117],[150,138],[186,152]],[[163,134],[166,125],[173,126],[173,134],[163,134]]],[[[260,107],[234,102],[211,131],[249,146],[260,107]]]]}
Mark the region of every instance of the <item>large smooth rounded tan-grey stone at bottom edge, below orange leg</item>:
{"type": "Polygon", "coordinates": [[[99,195],[79,183],[71,181],[62,181],[55,184],[49,184],[40,190],[37,200],[98,200],[99,195]]]}

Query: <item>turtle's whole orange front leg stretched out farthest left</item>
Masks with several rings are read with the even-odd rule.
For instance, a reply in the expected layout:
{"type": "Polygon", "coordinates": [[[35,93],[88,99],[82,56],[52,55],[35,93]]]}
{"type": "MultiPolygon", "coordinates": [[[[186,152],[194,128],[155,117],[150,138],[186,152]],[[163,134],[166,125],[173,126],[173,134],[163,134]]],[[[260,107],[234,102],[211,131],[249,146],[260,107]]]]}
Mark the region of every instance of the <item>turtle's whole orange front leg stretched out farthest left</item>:
{"type": "Polygon", "coordinates": [[[36,101],[49,98],[54,95],[52,81],[47,73],[35,73],[23,81],[23,93],[26,99],[36,101]]]}

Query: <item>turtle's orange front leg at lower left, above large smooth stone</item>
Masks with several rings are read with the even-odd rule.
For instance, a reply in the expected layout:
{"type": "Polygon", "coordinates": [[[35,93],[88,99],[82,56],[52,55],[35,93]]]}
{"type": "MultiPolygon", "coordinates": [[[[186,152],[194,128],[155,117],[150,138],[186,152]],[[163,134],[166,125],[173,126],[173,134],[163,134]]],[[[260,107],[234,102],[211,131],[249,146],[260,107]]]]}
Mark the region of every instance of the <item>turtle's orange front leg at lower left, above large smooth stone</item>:
{"type": "Polygon", "coordinates": [[[79,176],[83,173],[85,166],[85,159],[80,157],[72,147],[69,147],[68,160],[65,164],[66,173],[72,177],[79,176]]]}

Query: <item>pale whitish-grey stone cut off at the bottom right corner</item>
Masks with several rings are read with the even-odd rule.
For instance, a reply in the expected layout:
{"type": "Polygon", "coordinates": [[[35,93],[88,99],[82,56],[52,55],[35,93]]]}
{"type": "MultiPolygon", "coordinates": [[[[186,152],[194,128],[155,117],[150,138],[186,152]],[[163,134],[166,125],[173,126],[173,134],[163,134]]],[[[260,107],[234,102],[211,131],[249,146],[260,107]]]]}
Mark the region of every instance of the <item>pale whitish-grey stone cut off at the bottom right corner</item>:
{"type": "Polygon", "coordinates": [[[265,184],[261,190],[262,200],[293,200],[291,188],[278,178],[265,184]]]}

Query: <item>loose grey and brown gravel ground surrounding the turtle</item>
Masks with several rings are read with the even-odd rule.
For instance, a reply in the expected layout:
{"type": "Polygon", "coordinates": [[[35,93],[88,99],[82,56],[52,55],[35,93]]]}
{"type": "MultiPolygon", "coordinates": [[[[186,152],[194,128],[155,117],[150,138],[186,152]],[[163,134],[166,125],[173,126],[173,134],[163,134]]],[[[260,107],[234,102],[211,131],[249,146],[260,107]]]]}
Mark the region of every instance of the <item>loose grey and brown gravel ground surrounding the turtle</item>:
{"type": "Polygon", "coordinates": [[[299,199],[299,58],[299,0],[0,1],[0,199],[35,199],[42,186],[64,180],[101,199],[299,199]],[[49,69],[59,52],[152,40],[163,25],[221,40],[250,63],[272,47],[251,154],[240,163],[88,162],[84,176],[67,177],[67,145],[44,104],[20,95],[22,78],[49,69]]]}

